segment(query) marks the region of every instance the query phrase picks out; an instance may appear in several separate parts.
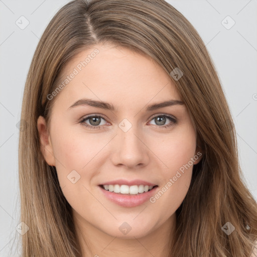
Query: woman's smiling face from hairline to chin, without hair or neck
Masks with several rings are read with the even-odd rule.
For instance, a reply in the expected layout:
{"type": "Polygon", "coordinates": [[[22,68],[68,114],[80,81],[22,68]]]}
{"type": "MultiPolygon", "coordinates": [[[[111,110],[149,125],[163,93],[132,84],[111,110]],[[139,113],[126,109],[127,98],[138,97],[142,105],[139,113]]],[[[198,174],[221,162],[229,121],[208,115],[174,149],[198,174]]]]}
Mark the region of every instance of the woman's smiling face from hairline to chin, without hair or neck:
{"type": "Polygon", "coordinates": [[[41,116],[38,130],[75,218],[116,237],[155,231],[175,216],[200,161],[185,104],[160,104],[181,101],[170,76],[112,45],[81,52],[62,75],[65,86],[48,95],[55,101],[49,134],[41,116]],[[116,193],[100,185],[116,185],[116,193]]]}

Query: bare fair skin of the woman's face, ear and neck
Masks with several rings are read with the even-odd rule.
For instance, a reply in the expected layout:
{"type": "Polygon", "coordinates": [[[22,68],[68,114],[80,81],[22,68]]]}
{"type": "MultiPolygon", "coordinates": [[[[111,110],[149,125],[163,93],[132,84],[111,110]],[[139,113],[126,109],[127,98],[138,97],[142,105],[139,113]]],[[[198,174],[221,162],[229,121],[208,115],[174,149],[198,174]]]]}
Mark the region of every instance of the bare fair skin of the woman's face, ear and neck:
{"type": "Polygon", "coordinates": [[[188,192],[193,165],[180,172],[172,186],[167,183],[199,153],[188,110],[185,104],[146,110],[154,103],[181,98],[169,74],[131,50],[95,45],[73,58],[63,76],[74,68],[78,74],[55,96],[49,131],[42,116],[38,131],[44,158],[56,167],[63,194],[73,208],[83,256],[165,256],[176,226],[175,211],[188,192]],[[95,48],[99,53],[81,71],[76,68],[95,48]],[[117,111],[89,105],[69,108],[81,98],[108,102],[117,111]],[[103,116],[98,129],[83,125],[97,126],[95,119],[80,123],[89,114],[103,116]],[[119,127],[123,119],[129,121],[125,126],[132,125],[126,132],[119,127]],[[76,183],[67,178],[73,170],[80,176],[77,180],[75,175],[76,183]],[[159,190],[166,185],[166,190],[155,202],[122,207],[99,188],[104,181],[116,179],[141,179],[158,185],[159,190]],[[119,229],[124,222],[131,227],[126,234],[119,229]]]}

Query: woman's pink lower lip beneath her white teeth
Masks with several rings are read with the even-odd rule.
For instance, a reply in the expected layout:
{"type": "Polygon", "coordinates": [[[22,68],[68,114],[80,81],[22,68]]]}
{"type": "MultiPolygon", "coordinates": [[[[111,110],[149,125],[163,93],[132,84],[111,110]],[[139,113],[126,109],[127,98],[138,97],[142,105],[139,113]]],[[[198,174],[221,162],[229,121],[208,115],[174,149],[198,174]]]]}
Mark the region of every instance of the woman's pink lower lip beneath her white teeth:
{"type": "Polygon", "coordinates": [[[149,200],[150,197],[155,194],[158,186],[148,192],[141,193],[139,195],[117,194],[117,193],[109,192],[101,188],[100,186],[99,188],[106,196],[106,198],[109,199],[111,202],[114,202],[123,207],[135,207],[149,200]]]}

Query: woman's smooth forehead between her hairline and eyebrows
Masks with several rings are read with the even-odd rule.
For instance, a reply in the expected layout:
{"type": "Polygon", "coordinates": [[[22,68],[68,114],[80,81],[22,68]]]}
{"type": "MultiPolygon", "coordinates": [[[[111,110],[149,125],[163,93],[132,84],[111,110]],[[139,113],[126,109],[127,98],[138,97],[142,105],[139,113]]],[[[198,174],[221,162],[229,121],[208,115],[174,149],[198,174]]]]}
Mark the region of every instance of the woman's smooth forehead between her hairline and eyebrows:
{"type": "Polygon", "coordinates": [[[82,97],[107,102],[180,99],[169,74],[153,59],[127,48],[95,45],[70,60],[57,84],[72,104],[82,97]]]}

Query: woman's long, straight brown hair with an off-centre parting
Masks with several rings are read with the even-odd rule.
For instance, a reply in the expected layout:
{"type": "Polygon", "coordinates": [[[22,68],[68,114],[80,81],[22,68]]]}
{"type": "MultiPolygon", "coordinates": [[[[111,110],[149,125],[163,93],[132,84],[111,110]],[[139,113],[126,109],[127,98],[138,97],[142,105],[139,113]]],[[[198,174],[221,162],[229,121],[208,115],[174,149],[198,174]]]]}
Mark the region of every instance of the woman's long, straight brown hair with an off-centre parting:
{"type": "Polygon", "coordinates": [[[238,162],[235,129],[211,57],[194,27],[163,0],[75,0],[51,20],[28,73],[21,119],[19,182],[22,256],[82,256],[71,206],[58,183],[55,167],[40,151],[39,115],[50,123],[64,66],[76,54],[111,42],[147,55],[170,75],[195,126],[203,158],[194,166],[188,193],[176,211],[170,255],[249,256],[257,238],[257,206],[238,162]],[[232,224],[229,235],[222,227],[232,224]]]}

